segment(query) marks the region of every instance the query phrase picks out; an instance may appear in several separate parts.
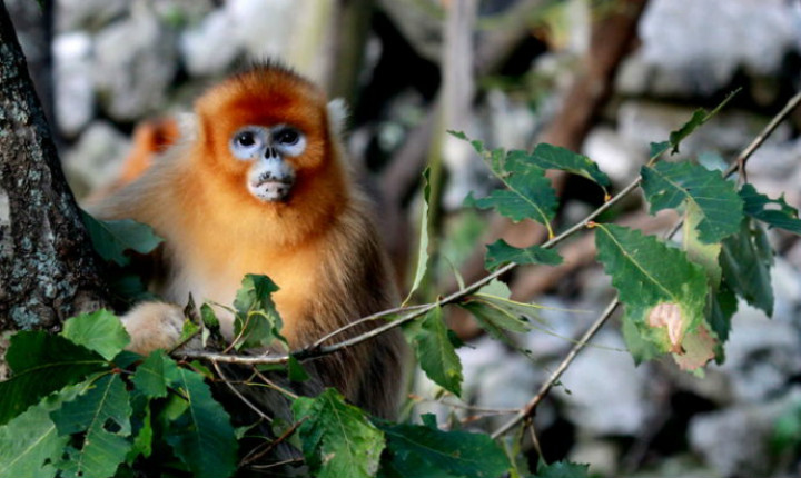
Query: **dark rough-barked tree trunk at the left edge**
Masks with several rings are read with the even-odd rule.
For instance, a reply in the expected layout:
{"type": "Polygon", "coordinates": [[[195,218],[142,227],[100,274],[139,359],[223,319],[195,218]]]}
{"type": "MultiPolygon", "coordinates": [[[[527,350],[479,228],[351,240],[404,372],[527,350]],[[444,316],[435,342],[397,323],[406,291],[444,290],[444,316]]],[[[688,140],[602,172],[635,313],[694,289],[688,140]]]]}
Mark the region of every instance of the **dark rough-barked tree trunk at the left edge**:
{"type": "Polygon", "coordinates": [[[0,331],[106,306],[97,263],[0,2],[0,331]]]}

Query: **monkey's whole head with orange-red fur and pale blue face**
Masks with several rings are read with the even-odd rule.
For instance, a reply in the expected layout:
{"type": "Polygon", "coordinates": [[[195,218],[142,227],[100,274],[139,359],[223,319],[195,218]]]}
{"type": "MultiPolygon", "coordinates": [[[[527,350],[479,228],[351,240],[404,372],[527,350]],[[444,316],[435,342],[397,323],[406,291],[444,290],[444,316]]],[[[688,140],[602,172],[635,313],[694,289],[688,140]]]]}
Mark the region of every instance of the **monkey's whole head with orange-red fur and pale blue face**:
{"type": "Polygon", "coordinates": [[[200,160],[237,195],[287,203],[334,161],[325,94],[268,63],[237,74],[197,102],[200,160]]]}

